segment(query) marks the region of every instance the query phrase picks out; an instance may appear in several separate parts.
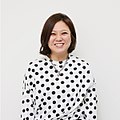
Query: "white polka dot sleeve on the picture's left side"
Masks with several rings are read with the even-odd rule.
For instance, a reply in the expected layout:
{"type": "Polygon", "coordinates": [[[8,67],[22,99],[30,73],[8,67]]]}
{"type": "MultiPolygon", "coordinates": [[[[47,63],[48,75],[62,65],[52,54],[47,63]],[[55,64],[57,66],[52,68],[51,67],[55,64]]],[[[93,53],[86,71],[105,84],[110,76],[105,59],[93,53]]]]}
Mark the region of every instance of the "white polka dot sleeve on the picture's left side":
{"type": "Polygon", "coordinates": [[[22,120],[34,120],[35,117],[35,84],[33,75],[29,72],[31,68],[28,68],[24,75],[22,86],[22,120]]]}

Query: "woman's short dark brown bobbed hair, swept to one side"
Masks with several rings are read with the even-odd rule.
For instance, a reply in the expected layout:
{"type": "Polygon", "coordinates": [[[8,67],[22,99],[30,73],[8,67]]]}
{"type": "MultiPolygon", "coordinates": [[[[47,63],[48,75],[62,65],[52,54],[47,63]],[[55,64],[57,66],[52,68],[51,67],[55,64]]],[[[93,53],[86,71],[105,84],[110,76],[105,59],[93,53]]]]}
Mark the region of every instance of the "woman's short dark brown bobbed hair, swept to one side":
{"type": "Polygon", "coordinates": [[[71,19],[62,13],[55,13],[51,15],[45,22],[42,32],[41,32],[41,47],[40,47],[40,53],[43,55],[49,56],[51,54],[51,50],[48,47],[48,41],[51,35],[51,32],[53,30],[54,25],[59,22],[63,21],[70,29],[71,32],[71,45],[68,48],[68,53],[71,53],[76,46],[76,32],[75,27],[73,25],[73,22],[71,19]]]}

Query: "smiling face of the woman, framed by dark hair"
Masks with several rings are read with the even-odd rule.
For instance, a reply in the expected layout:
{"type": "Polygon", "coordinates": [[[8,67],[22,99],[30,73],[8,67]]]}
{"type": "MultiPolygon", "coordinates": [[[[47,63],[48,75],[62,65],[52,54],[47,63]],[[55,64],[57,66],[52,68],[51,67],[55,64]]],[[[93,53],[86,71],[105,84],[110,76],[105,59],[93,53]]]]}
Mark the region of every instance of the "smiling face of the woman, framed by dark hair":
{"type": "Polygon", "coordinates": [[[71,44],[71,32],[69,27],[63,22],[59,21],[53,27],[48,46],[51,54],[68,54],[68,48],[71,44]]]}

